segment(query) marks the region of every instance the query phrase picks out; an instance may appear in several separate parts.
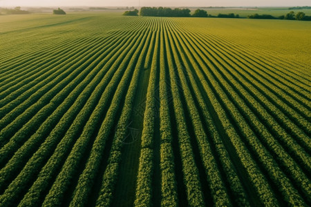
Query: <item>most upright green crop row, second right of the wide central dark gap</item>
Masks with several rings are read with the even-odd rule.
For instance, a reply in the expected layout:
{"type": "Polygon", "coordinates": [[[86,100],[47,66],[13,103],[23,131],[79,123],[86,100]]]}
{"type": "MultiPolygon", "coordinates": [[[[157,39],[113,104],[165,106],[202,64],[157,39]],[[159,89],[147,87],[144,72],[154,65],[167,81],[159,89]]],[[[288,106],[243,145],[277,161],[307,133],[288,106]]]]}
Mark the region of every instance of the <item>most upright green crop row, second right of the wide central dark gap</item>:
{"type": "MultiPolygon", "coordinates": [[[[162,21],[164,24],[164,21],[162,21]]],[[[171,116],[169,112],[169,73],[165,57],[167,38],[166,28],[160,34],[160,170],[161,170],[161,205],[178,206],[178,193],[175,175],[173,135],[171,130],[171,116]]]]}

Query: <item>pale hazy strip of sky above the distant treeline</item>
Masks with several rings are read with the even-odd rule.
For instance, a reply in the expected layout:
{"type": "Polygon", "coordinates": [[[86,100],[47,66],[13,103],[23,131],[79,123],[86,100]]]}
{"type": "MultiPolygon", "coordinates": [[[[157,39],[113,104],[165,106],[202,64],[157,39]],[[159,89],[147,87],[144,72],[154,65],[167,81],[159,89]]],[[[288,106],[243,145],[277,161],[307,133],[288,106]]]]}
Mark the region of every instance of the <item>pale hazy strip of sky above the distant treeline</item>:
{"type": "Polygon", "coordinates": [[[310,0],[0,0],[1,6],[310,6],[310,0]]]}

